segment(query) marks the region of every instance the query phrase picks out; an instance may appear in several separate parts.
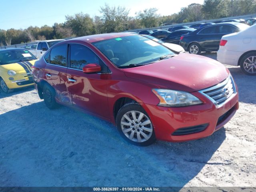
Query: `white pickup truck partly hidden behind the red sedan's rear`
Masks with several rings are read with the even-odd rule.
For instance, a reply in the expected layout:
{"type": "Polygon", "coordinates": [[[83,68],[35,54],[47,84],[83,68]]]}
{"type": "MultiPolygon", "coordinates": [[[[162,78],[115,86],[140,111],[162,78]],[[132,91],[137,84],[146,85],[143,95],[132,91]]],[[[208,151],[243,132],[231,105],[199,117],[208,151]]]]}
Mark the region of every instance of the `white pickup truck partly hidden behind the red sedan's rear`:
{"type": "Polygon", "coordinates": [[[51,46],[61,41],[64,41],[64,39],[38,41],[36,49],[30,49],[29,51],[40,59],[51,46]]]}

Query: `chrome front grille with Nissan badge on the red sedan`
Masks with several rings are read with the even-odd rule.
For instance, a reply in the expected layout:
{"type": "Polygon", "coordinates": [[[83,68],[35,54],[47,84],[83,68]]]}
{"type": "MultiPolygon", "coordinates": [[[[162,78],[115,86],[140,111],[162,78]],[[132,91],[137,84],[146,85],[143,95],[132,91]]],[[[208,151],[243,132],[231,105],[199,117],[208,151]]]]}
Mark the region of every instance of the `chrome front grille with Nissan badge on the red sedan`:
{"type": "Polygon", "coordinates": [[[228,98],[236,94],[236,87],[232,76],[229,76],[223,82],[200,92],[212,100],[216,106],[220,107],[226,103],[228,98]]]}

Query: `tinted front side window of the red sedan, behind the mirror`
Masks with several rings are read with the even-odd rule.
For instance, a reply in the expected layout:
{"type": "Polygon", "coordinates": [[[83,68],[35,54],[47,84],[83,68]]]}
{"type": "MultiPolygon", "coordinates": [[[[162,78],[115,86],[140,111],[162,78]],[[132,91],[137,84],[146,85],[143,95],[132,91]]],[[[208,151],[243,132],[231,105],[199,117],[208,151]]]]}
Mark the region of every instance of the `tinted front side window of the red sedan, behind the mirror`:
{"type": "Polygon", "coordinates": [[[89,48],[80,44],[70,44],[70,67],[82,70],[84,66],[96,63],[101,66],[101,73],[107,73],[108,68],[102,60],[89,48]]]}

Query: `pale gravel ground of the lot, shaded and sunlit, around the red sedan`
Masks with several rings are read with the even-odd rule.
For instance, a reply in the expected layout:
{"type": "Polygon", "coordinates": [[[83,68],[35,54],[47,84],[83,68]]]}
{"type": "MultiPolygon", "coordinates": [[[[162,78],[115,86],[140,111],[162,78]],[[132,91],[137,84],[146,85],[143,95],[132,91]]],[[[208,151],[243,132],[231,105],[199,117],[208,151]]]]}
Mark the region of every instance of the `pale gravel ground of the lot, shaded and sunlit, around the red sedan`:
{"type": "Polygon", "coordinates": [[[0,186],[256,186],[255,77],[227,67],[240,95],[232,120],[207,138],[148,147],[94,116],[49,110],[33,88],[0,94],[0,186]]]}

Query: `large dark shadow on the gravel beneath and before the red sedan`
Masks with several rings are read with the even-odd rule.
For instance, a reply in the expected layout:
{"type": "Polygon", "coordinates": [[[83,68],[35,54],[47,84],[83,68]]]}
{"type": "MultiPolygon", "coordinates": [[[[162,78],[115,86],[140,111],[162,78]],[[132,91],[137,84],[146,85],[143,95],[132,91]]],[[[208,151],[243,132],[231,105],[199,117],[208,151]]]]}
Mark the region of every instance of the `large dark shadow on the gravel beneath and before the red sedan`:
{"type": "Polygon", "coordinates": [[[0,186],[179,186],[194,178],[226,138],[137,147],[104,120],[43,102],[0,115],[0,186]]]}

